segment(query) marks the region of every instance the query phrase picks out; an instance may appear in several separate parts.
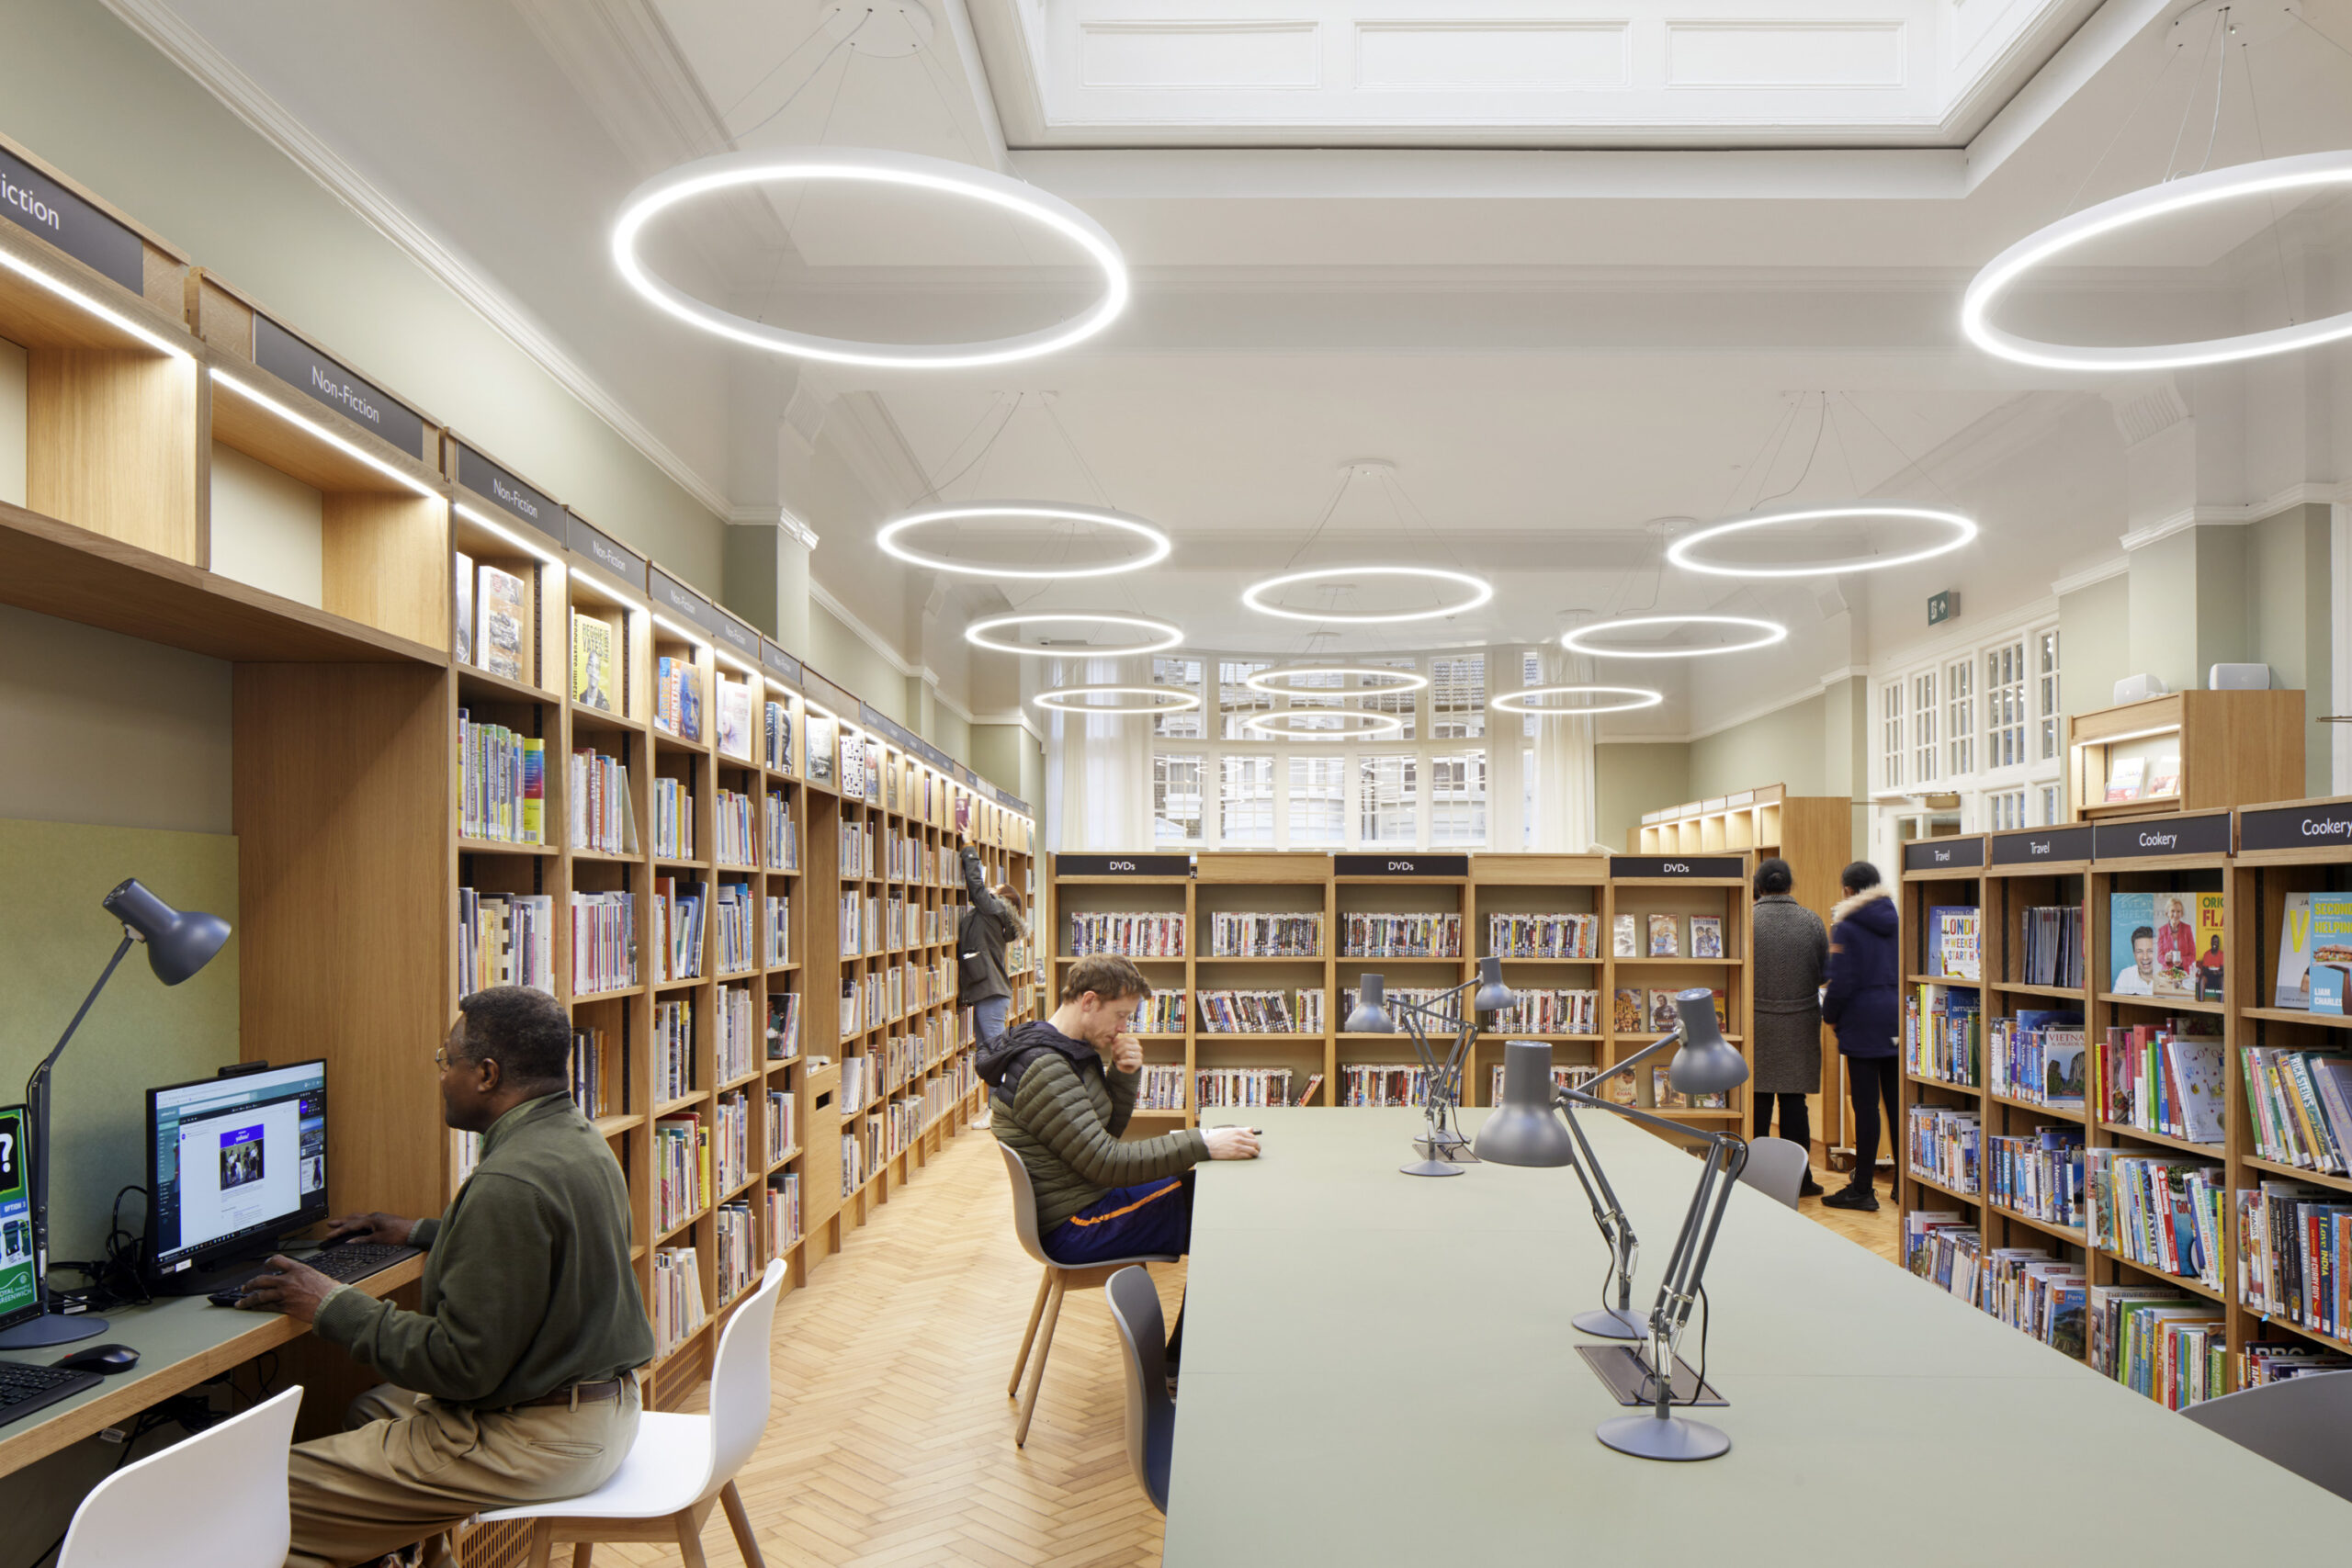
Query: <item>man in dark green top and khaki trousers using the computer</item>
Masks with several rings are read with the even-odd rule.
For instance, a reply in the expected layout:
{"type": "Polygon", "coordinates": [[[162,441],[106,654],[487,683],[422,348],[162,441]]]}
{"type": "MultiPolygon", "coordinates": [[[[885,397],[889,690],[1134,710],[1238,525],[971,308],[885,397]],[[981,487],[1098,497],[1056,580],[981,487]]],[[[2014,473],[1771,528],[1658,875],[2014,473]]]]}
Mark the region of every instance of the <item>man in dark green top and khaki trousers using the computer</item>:
{"type": "Polygon", "coordinates": [[[437,1220],[334,1220],[332,1237],[426,1248],[419,1312],[289,1258],[247,1307],[313,1324],[390,1378],[353,1429],[296,1443],[289,1568],[376,1561],[485,1507],[579,1497],[637,1436],[654,1331],[628,1262],[628,1187],[567,1086],[572,1020],[499,985],[459,1001],[437,1051],[449,1126],[482,1164],[437,1220]]]}

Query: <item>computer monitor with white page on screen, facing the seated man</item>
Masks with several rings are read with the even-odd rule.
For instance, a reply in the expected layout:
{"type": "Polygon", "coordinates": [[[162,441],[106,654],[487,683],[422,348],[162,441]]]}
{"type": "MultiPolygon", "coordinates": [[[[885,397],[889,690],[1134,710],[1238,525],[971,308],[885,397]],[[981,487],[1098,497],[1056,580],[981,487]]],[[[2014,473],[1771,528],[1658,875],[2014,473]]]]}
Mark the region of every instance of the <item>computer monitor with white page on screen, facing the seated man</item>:
{"type": "Polygon", "coordinates": [[[172,1295],[327,1218],[327,1063],[148,1091],[148,1272],[172,1295]]]}

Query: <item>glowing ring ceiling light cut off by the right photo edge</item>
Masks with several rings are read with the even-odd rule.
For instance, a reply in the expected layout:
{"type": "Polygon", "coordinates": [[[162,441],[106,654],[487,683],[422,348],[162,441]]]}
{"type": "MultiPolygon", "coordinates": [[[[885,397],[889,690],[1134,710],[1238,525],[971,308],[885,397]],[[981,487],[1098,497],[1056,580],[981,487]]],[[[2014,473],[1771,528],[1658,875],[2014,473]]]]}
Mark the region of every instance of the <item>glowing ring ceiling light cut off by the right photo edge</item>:
{"type": "MultiPolygon", "coordinates": [[[[2216,110],[2218,113],[2218,110],[2216,110]]],[[[2100,348],[2074,343],[2039,343],[2034,339],[2002,331],[1987,317],[1994,301],[2032,268],[2060,256],[2077,244],[2098,240],[2133,223],[2150,223],[2176,212],[2192,212],[2211,202],[2237,195],[2281,195],[2288,190],[2312,190],[2317,186],[2352,186],[2352,150],[2296,153],[2293,158],[2267,158],[2241,162],[2227,169],[2209,169],[2183,179],[2131,190],[2126,195],[2084,207],[2046,228],[2037,228],[2006,252],[1985,263],[1969,282],[1959,301],[1959,329],[1971,343],[2002,360],[2039,364],[2044,369],[2100,369],[2100,371],[2150,371],[2185,369],[2194,364],[2227,364],[2232,360],[2258,360],[2284,355],[2296,348],[2336,343],[2352,339],[2352,310],[2326,315],[2312,322],[2272,327],[2270,331],[2246,331],[2234,339],[2204,339],[2197,343],[2150,343],[2143,348],[2100,348]]]]}

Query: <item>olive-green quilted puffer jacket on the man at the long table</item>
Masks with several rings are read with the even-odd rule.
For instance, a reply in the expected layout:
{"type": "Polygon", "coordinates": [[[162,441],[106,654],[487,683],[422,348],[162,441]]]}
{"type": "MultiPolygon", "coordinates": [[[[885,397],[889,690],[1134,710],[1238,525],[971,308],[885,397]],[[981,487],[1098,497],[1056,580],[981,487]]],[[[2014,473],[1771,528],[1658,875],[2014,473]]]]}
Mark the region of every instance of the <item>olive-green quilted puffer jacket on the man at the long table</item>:
{"type": "Polygon", "coordinates": [[[1101,1053],[1051,1023],[1007,1030],[981,1046],[981,1081],[997,1143],[1028,1166],[1037,1234],[1049,1234],[1112,1187],[1183,1175],[1209,1159],[1192,1128],[1122,1143],[1141,1072],[1105,1072],[1101,1053]]]}

